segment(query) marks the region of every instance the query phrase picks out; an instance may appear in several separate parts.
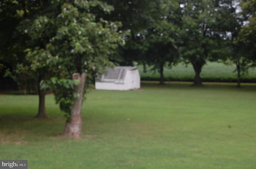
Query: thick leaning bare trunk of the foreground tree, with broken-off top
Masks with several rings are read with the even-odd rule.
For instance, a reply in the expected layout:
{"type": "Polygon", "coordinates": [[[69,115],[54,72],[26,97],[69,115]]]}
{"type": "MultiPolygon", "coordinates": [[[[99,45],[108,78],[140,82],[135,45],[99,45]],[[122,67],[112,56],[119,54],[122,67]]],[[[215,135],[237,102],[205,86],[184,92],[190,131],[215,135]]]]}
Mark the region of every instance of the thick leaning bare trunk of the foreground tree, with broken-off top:
{"type": "Polygon", "coordinates": [[[74,136],[75,138],[79,138],[82,134],[82,104],[83,104],[83,92],[84,92],[84,83],[86,81],[86,73],[82,73],[80,76],[79,73],[74,73],[72,75],[72,79],[78,79],[79,84],[75,88],[75,92],[79,95],[74,99],[74,104],[70,111],[70,120],[66,121],[65,130],[62,136],[74,136]]]}

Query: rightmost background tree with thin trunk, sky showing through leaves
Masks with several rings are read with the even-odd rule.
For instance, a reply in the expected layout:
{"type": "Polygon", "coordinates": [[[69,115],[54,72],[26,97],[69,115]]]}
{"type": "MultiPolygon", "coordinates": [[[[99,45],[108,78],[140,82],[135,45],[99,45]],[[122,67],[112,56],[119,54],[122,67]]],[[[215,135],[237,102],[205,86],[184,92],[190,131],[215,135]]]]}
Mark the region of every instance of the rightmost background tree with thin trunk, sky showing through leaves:
{"type": "Polygon", "coordinates": [[[218,29],[224,40],[223,53],[226,56],[222,59],[226,64],[236,65],[238,87],[240,87],[241,75],[255,65],[253,43],[255,43],[256,31],[253,30],[255,26],[250,26],[253,22],[249,21],[253,20],[254,11],[255,4],[252,1],[249,3],[249,1],[240,2],[240,0],[223,0],[222,7],[218,8],[218,13],[225,18],[225,20],[222,18],[218,20],[218,29]],[[247,13],[248,9],[251,14],[247,13]],[[253,12],[252,9],[254,9],[253,12]]]}

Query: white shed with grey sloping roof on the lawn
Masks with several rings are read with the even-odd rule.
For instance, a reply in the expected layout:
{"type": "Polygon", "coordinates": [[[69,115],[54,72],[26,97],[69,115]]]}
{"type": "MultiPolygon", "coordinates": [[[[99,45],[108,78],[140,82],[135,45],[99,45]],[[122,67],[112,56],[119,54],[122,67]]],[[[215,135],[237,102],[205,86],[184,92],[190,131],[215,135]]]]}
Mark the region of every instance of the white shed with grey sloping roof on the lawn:
{"type": "Polygon", "coordinates": [[[95,82],[98,90],[131,90],[140,88],[140,73],[137,67],[117,66],[106,69],[95,82]]]}

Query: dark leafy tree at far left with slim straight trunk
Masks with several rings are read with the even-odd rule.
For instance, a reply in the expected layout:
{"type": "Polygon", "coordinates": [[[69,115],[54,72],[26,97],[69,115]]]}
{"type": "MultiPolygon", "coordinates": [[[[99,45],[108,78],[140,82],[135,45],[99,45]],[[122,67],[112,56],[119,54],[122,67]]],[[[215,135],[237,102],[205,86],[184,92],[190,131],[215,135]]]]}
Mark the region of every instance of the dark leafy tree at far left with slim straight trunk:
{"type": "Polygon", "coordinates": [[[11,29],[6,28],[6,35],[4,35],[4,44],[8,47],[4,48],[1,45],[4,48],[1,52],[6,58],[15,58],[15,60],[12,59],[15,65],[10,66],[8,75],[18,83],[20,88],[24,89],[25,94],[28,88],[32,88],[33,92],[35,89],[38,90],[36,92],[39,95],[37,117],[46,118],[45,92],[40,90],[40,81],[49,78],[52,73],[49,65],[54,63],[54,59],[45,49],[56,30],[53,23],[60,12],[60,2],[3,0],[1,7],[3,8],[1,14],[4,13],[7,18],[17,20],[14,23],[12,23],[14,19],[6,22],[2,20],[5,24],[12,23],[11,29]]]}

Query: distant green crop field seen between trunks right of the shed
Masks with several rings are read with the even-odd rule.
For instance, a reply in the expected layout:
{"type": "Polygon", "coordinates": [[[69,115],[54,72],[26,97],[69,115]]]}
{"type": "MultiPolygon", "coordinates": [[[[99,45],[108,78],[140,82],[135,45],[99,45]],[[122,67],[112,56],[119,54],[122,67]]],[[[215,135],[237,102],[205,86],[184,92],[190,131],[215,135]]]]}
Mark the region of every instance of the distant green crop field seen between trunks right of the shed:
{"type": "MultiPolygon", "coordinates": [[[[138,66],[142,80],[158,80],[160,74],[154,71],[143,72],[143,67],[138,66]]],[[[223,63],[209,62],[202,68],[201,78],[203,81],[219,81],[219,82],[236,82],[237,74],[234,72],[235,65],[224,65],[223,63]]],[[[164,69],[164,77],[166,81],[192,81],[195,73],[192,65],[178,64],[172,69],[164,69]]],[[[242,75],[242,81],[256,82],[256,68],[249,69],[248,74],[242,75]]]]}

